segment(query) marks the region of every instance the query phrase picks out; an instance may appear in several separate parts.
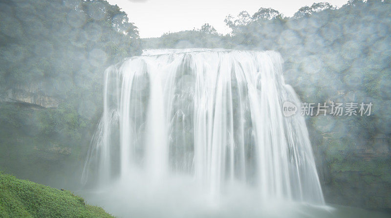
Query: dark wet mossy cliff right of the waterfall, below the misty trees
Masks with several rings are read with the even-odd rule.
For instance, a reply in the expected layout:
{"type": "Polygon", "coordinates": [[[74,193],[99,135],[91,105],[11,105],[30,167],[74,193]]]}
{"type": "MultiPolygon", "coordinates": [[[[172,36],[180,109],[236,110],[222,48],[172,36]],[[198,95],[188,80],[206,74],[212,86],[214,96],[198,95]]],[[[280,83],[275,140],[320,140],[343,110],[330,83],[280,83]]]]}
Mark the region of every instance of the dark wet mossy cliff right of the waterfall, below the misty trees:
{"type": "Polygon", "coordinates": [[[307,126],[327,203],[391,208],[390,134],[358,138],[349,135],[346,119],[331,117],[311,118],[307,126]],[[328,129],[320,119],[336,127],[328,129]]]}

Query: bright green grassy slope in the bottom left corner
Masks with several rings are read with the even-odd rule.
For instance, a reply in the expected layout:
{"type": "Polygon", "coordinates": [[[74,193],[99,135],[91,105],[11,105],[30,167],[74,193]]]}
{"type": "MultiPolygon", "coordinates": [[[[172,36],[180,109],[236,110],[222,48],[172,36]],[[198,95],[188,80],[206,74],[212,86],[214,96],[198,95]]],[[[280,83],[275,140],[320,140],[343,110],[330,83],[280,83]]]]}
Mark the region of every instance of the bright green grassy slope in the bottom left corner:
{"type": "Polygon", "coordinates": [[[0,217],[112,218],[83,198],[0,172],[0,217]]]}

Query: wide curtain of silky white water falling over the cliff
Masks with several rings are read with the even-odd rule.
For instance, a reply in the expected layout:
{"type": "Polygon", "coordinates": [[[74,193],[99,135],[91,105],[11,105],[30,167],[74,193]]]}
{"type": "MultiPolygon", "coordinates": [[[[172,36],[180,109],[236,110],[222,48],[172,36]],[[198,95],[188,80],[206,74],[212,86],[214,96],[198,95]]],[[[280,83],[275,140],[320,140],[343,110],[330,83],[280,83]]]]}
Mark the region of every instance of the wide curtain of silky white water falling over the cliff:
{"type": "Polygon", "coordinates": [[[304,118],[284,117],[284,101],[300,105],[276,52],[147,50],[106,70],[82,179],[190,175],[214,197],[246,186],[260,201],[324,204],[304,118]]]}

